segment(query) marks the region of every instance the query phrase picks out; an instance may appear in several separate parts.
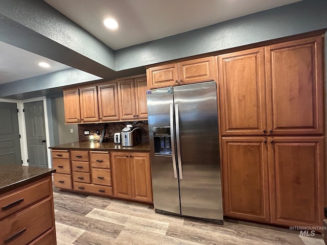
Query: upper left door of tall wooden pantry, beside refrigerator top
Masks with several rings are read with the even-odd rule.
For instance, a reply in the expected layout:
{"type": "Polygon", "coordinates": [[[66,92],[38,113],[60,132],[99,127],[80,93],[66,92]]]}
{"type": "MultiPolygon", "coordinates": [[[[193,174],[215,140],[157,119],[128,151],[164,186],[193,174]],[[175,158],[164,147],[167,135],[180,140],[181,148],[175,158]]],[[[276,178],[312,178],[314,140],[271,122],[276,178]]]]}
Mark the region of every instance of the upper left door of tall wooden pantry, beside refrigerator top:
{"type": "Polygon", "coordinates": [[[218,56],[222,135],[265,135],[264,49],[218,56]]]}

